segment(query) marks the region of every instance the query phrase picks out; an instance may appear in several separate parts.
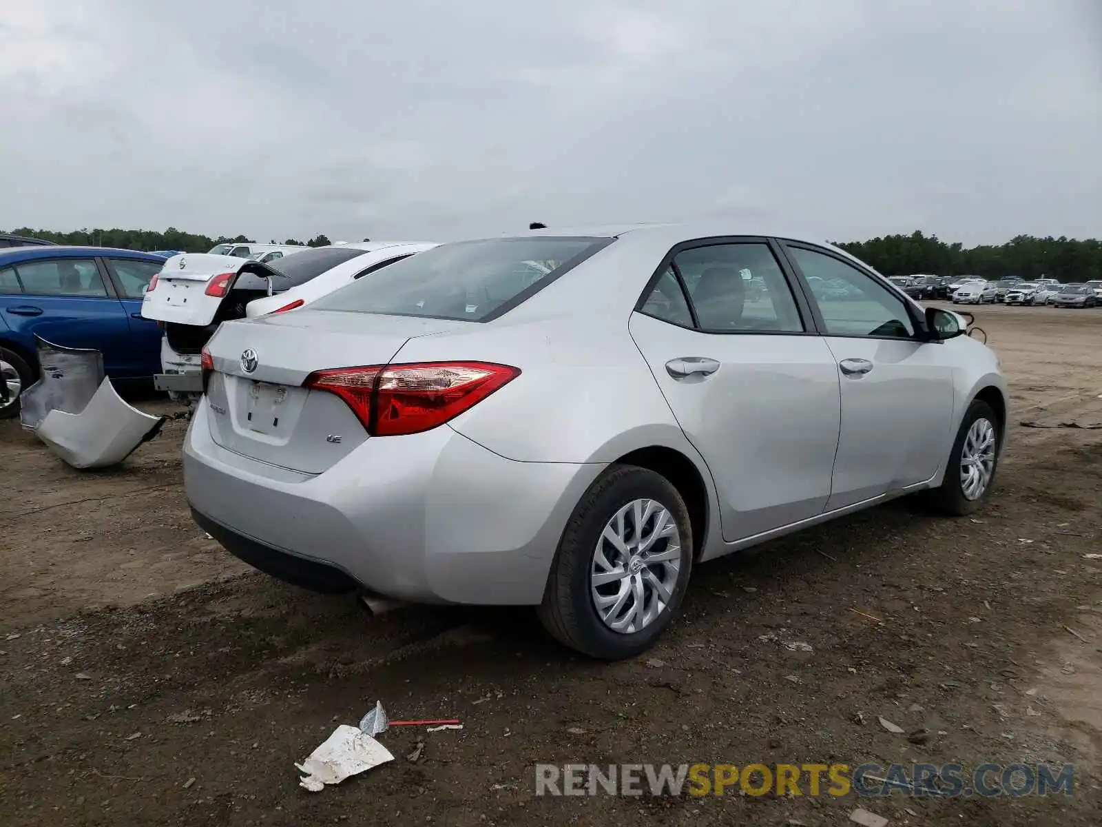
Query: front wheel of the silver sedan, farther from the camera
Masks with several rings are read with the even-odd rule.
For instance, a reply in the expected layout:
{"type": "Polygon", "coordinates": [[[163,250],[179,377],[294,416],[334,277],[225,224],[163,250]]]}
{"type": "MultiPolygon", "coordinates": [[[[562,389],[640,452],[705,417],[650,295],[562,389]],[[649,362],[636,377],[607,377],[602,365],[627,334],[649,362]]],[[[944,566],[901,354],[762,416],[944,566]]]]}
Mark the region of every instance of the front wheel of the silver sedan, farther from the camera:
{"type": "Polygon", "coordinates": [[[931,492],[934,506],[947,514],[972,514],[995,481],[1002,434],[998,417],[982,399],[973,399],[964,412],[946,464],[946,479],[931,492]]]}

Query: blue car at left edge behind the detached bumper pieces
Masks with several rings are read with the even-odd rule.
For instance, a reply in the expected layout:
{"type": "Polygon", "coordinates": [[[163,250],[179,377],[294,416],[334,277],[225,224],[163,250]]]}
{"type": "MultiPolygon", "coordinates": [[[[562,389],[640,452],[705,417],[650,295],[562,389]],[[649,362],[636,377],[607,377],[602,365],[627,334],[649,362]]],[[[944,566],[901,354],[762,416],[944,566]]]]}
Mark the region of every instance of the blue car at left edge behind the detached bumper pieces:
{"type": "Polygon", "coordinates": [[[0,249],[0,419],[19,414],[19,395],[39,374],[35,335],[104,354],[112,379],[161,369],[162,331],[141,300],[164,258],[102,247],[0,249]]]}

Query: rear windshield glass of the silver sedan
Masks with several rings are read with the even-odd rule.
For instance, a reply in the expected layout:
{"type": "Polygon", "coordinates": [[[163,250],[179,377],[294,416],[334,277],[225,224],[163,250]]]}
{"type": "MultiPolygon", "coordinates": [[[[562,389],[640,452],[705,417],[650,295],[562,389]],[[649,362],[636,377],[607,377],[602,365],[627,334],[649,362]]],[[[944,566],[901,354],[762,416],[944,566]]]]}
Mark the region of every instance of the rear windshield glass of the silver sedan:
{"type": "Polygon", "coordinates": [[[383,268],[313,307],[485,322],[534,296],[612,240],[495,238],[445,244],[383,268]]]}

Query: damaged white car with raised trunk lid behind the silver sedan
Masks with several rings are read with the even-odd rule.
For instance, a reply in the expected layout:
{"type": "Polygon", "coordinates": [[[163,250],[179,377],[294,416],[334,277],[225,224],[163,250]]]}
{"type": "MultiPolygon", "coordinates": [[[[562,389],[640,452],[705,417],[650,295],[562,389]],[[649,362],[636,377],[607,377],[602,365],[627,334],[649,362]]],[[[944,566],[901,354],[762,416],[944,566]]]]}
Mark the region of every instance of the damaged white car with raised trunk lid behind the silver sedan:
{"type": "Polygon", "coordinates": [[[164,329],[162,373],[153,377],[154,387],[174,399],[197,397],[203,389],[199,353],[223,322],[293,310],[433,246],[363,241],[304,248],[268,264],[213,254],[173,256],[142,298],[142,316],[164,329]]]}

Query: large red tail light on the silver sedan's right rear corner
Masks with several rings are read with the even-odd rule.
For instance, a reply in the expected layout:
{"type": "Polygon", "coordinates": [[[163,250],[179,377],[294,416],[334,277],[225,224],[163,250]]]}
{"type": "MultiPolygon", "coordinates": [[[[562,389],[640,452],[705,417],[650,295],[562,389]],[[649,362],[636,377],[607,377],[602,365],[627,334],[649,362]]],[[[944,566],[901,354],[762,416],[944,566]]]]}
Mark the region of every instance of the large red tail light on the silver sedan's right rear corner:
{"type": "Polygon", "coordinates": [[[339,396],[372,437],[432,430],[520,375],[487,362],[426,362],[316,370],[303,385],[339,396]]]}

